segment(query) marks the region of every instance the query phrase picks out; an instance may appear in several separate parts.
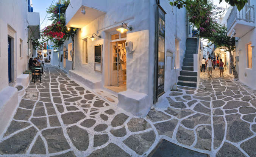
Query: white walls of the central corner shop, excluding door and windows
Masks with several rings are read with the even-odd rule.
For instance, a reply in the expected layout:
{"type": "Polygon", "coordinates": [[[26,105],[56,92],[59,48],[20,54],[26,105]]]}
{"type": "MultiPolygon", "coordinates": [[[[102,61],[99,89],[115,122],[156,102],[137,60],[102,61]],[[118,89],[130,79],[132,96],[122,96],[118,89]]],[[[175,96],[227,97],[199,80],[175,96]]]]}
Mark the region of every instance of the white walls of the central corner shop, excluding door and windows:
{"type": "MultiPolygon", "coordinates": [[[[132,26],[133,30],[127,32],[126,41],[133,42],[133,53],[127,53],[127,89],[147,95],[148,108],[153,105],[153,85],[154,85],[154,64],[155,64],[155,1],[148,0],[108,0],[106,14],[95,19],[88,25],[78,29],[75,36],[75,60],[74,71],[82,72],[90,78],[101,79],[102,86],[109,86],[111,83],[111,58],[110,58],[110,34],[118,28],[122,22],[132,26]],[[114,5],[113,5],[114,4],[114,5]],[[120,9],[122,8],[122,9],[120,9]],[[101,35],[101,38],[91,41],[92,34],[101,35]],[[83,39],[87,40],[88,63],[82,64],[81,56],[84,51],[83,39]],[[94,46],[103,45],[102,53],[102,73],[94,71],[94,46]]],[[[167,65],[165,62],[165,91],[169,91],[172,85],[178,80],[180,68],[186,50],[186,11],[185,9],[175,9],[166,0],[161,0],[160,5],[167,12],[165,15],[165,61],[171,60],[167,65]],[[176,17],[177,15],[177,17],[176,17]],[[176,25],[177,21],[177,25],[176,25]],[[177,26],[177,27],[176,27],[177,26]],[[176,29],[177,28],[177,29],[176,29]],[[175,60],[175,39],[179,40],[179,60],[180,66],[174,69],[175,60]],[[167,51],[173,57],[166,56],[167,51]],[[176,74],[175,74],[176,70],[176,74]]],[[[71,39],[64,43],[68,48],[71,39]]],[[[63,51],[61,51],[63,54],[63,51]]],[[[66,68],[72,68],[72,62],[66,61],[66,68]],[[71,66],[70,66],[71,64],[71,66]]]]}

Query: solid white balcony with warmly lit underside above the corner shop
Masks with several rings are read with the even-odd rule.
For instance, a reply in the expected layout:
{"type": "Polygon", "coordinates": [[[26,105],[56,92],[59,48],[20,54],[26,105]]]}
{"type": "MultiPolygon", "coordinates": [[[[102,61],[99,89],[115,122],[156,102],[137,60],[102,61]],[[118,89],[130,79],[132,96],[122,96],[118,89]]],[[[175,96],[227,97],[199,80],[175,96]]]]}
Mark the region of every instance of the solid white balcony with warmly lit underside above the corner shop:
{"type": "Polygon", "coordinates": [[[66,10],[66,26],[83,28],[106,13],[107,0],[70,0],[66,10]],[[82,13],[85,10],[85,14],[82,13]]]}

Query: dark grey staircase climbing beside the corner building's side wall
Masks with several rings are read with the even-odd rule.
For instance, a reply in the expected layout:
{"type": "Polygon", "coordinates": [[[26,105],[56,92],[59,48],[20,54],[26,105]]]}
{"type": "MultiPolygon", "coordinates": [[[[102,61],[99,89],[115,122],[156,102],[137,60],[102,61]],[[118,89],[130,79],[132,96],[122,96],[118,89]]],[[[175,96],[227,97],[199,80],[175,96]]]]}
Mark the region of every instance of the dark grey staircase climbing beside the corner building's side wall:
{"type": "Polygon", "coordinates": [[[194,54],[197,53],[197,38],[187,38],[186,53],[180,71],[178,85],[197,87],[197,72],[194,72],[194,54]]]}

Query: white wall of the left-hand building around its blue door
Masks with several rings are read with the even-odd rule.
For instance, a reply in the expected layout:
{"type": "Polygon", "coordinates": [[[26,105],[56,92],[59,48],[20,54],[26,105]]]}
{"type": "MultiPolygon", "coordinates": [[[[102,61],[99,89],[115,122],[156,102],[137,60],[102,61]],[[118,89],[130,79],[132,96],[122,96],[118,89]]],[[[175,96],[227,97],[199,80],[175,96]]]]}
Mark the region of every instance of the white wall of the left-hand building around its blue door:
{"type": "Polygon", "coordinates": [[[27,8],[26,0],[0,1],[0,63],[2,72],[2,75],[0,75],[0,91],[8,86],[8,35],[13,38],[13,81],[16,81],[17,77],[27,69],[27,8]],[[11,28],[14,33],[8,34],[8,28],[11,28]],[[20,39],[23,41],[22,57],[19,56],[20,39]]]}

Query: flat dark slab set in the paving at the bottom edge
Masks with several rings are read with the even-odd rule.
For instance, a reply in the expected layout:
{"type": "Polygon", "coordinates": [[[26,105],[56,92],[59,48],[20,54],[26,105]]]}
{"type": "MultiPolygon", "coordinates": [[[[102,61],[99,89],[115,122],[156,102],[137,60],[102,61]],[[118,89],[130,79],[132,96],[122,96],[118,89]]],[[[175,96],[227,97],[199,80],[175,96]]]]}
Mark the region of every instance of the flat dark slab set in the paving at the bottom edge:
{"type": "Polygon", "coordinates": [[[209,157],[207,154],[192,151],[175,145],[167,140],[161,140],[148,157],[209,157]]]}

